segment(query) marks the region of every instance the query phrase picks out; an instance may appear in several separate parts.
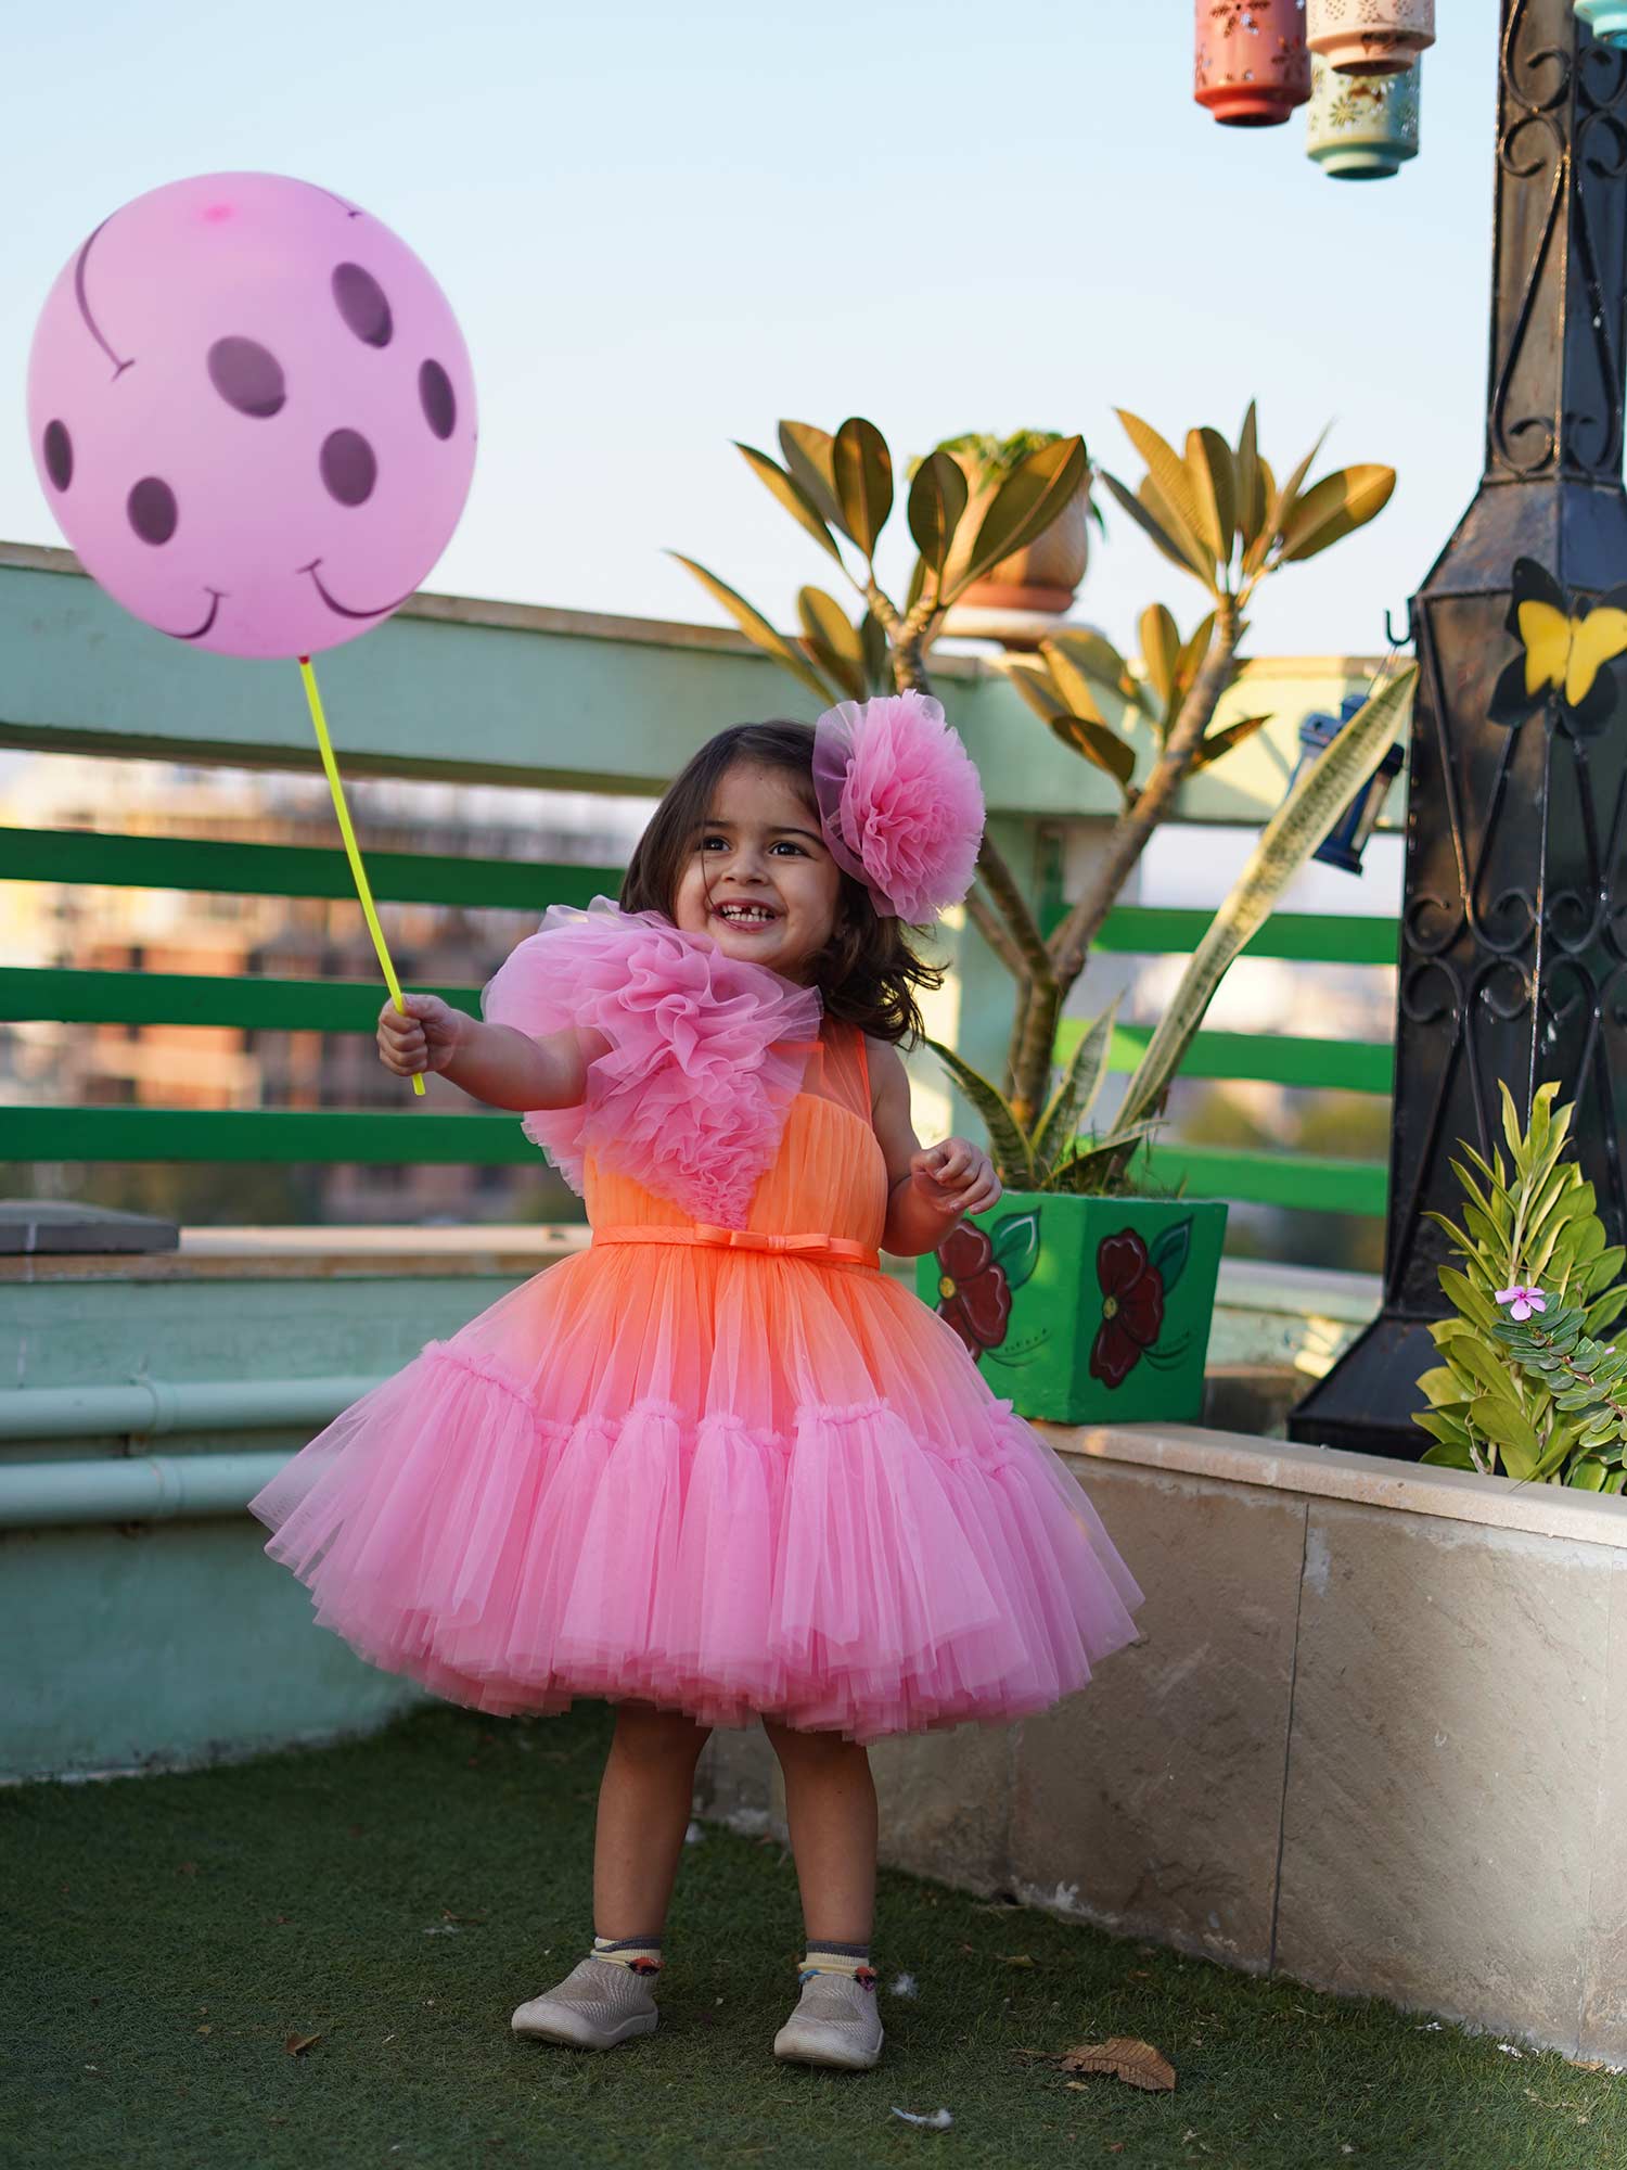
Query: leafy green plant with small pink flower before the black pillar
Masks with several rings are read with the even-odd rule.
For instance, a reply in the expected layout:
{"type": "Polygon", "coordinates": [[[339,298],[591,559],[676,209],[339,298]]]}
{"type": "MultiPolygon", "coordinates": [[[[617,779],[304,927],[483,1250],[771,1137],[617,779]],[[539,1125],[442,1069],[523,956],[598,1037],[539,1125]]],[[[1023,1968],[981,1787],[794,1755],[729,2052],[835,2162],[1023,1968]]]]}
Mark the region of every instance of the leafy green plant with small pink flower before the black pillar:
{"type": "Polygon", "coordinates": [[[1566,1154],[1558,1087],[1538,1087],[1525,1131],[1501,1094],[1508,1157],[1462,1146],[1462,1226],[1430,1215],[1462,1267],[1440,1267],[1451,1315],[1430,1328],[1440,1363],[1419,1380],[1430,1406],[1414,1421],[1434,1437],[1423,1460],[1618,1493],[1627,1352],[1601,1337],[1627,1311],[1627,1250],[1605,1243],[1594,1189],[1566,1154]]]}

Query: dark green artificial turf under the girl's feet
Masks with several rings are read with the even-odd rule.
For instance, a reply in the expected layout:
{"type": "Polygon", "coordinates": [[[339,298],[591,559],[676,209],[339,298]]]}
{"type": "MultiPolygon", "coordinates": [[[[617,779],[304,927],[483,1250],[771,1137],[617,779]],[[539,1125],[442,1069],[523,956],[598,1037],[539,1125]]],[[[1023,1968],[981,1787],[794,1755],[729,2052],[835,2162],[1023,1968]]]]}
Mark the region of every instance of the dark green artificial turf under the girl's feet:
{"type": "Polygon", "coordinates": [[[781,2068],[794,1875],[725,1831],[683,1858],[659,2031],[607,2057],[516,2042],[510,2009],[588,1936],[605,1740],[601,1708],[434,1710],[338,1749],[0,1795],[0,2166],[1627,2161],[1627,2077],[900,1875],[881,2070],[781,2068]],[[1154,2042],[1176,2090],[1069,2088],[1046,2062],[1113,2033],[1154,2042]],[[939,2103],[950,2131],[892,2116],[939,2103]]]}

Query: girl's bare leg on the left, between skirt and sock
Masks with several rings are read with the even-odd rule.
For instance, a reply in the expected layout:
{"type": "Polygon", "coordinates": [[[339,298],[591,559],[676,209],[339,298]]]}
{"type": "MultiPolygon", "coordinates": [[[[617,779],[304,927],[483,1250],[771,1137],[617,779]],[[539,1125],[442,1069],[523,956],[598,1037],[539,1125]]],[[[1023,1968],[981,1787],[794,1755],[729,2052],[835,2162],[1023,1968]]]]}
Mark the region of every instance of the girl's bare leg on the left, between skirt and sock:
{"type": "Polygon", "coordinates": [[[677,1710],[618,1706],[592,1851],[597,1936],[662,1933],[707,1734],[677,1710]]]}

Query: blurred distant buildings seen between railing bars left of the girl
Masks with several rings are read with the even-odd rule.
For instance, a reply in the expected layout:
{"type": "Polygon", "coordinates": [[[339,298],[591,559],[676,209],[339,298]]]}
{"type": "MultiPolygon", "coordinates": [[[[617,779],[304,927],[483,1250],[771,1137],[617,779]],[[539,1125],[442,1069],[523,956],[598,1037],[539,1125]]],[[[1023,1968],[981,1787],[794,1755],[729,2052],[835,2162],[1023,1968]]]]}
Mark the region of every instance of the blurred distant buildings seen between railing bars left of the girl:
{"type": "MultiPolygon", "coordinates": [[[[358,779],[347,783],[347,799],[364,853],[623,866],[649,818],[644,801],[586,792],[358,779]]],[[[0,822],[336,846],[321,777],[161,762],[39,755],[0,796],[0,822]]],[[[540,905],[525,914],[380,905],[403,985],[484,985],[538,916],[540,905]]],[[[0,883],[0,955],[15,966],[82,972],[362,981],[377,987],[380,1005],[386,998],[354,898],[0,883]]],[[[364,1033],[0,1024],[0,1102],[11,1105],[369,1109],[399,1107],[403,1092],[364,1033]]],[[[427,1081],[425,1105],[469,1107],[438,1078],[427,1081]]],[[[184,1185],[189,1220],[267,1217],[265,1185],[254,1215],[234,1215],[230,1167],[219,1170],[210,1211],[200,1211],[197,1174],[193,1167],[184,1185]]],[[[87,1167],[72,1189],[102,1196],[106,1176],[87,1167]]],[[[317,1165],[289,1189],[291,1217],[321,1222],[534,1220],[575,1207],[540,1154],[536,1167],[317,1165]]]]}

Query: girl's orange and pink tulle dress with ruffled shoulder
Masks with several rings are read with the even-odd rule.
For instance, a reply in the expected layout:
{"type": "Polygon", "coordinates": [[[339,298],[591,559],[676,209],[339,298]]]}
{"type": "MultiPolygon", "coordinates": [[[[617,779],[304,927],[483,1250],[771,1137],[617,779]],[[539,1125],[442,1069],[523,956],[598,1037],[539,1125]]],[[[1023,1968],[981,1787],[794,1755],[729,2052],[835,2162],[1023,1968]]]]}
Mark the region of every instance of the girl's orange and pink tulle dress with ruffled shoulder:
{"type": "Polygon", "coordinates": [[[1135,1641],[1087,1495],[881,1269],[857,1026],[605,898],[553,907],[486,1016],[601,1033],[584,1105],[525,1118],[592,1243],[252,1502],[325,1628],[477,1710],[855,1740],[1041,1710],[1135,1641]]]}

